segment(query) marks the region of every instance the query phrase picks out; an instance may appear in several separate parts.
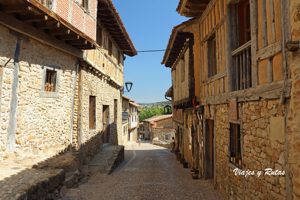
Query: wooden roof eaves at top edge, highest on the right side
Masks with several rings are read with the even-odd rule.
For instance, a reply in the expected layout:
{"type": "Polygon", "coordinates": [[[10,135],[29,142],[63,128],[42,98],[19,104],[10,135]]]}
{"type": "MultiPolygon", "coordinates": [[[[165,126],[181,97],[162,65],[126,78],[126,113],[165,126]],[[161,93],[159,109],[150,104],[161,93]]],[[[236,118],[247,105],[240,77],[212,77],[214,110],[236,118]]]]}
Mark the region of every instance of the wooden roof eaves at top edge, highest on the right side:
{"type": "Polygon", "coordinates": [[[200,17],[210,0],[180,0],[176,11],[185,17],[200,17]]]}

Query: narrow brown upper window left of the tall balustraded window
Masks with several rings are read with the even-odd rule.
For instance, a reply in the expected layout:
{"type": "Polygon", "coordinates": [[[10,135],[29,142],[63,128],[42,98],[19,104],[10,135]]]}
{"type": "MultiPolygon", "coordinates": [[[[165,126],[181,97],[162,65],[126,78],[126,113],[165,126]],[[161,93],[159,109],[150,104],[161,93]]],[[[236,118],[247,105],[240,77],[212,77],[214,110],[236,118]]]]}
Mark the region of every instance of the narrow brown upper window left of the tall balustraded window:
{"type": "Polygon", "coordinates": [[[208,78],[217,74],[216,36],[211,36],[208,42],[208,78]]]}

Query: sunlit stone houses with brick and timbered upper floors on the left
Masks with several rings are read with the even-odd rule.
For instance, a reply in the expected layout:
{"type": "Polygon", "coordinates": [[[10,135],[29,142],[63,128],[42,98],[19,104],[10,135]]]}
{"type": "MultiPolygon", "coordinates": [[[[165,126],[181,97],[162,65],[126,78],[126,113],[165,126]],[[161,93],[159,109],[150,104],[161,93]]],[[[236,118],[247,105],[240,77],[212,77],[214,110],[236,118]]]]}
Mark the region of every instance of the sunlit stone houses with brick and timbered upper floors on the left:
{"type": "Polygon", "coordinates": [[[120,144],[124,54],[137,52],[113,3],[0,5],[0,160],[68,149],[83,164],[120,144]]]}

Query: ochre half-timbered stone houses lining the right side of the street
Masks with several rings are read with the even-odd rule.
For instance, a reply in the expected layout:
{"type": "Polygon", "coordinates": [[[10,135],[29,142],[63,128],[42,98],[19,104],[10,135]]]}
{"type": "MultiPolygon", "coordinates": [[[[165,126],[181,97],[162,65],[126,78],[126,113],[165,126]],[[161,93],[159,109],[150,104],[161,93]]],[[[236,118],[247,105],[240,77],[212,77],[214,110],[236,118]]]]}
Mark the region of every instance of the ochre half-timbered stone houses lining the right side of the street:
{"type": "Polygon", "coordinates": [[[179,2],[177,11],[197,21],[199,39],[176,40],[182,30],[175,34],[174,27],[168,47],[180,48],[162,62],[172,68],[166,96],[172,97],[176,145],[229,199],[299,199],[300,3],[205,2],[179,2]],[[198,51],[187,59],[189,45],[198,51]],[[197,84],[178,84],[186,74],[197,84]],[[264,175],[267,168],[285,174],[264,175]],[[234,169],[263,173],[244,177],[234,169]]]}

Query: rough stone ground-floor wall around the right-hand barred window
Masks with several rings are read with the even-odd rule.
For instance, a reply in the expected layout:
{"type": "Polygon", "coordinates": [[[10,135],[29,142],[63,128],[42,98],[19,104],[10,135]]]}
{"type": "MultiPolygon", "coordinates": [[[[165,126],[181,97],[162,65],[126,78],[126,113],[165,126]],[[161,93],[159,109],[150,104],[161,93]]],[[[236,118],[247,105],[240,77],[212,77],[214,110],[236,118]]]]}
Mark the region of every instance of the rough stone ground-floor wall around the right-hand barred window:
{"type": "MultiPolygon", "coordinates": [[[[255,173],[267,168],[285,170],[284,116],[286,104],[279,100],[264,100],[238,104],[238,120],[229,120],[228,104],[209,106],[215,124],[215,181],[217,189],[230,199],[284,199],[285,175],[257,174],[235,176],[229,163],[229,128],[241,124],[242,170],[255,173]],[[212,111],[216,110],[216,116],[212,111]],[[283,119],[283,121],[282,121],[283,119]],[[281,121],[280,121],[281,120],[281,121]],[[274,130],[274,128],[276,129],[274,130]],[[281,131],[283,130],[283,131],[281,131]],[[243,187],[244,194],[243,194],[243,187]],[[229,190],[228,190],[229,188],[229,190]],[[227,193],[229,192],[229,194],[227,193]]],[[[207,113],[207,112],[205,112],[207,113]]]]}

